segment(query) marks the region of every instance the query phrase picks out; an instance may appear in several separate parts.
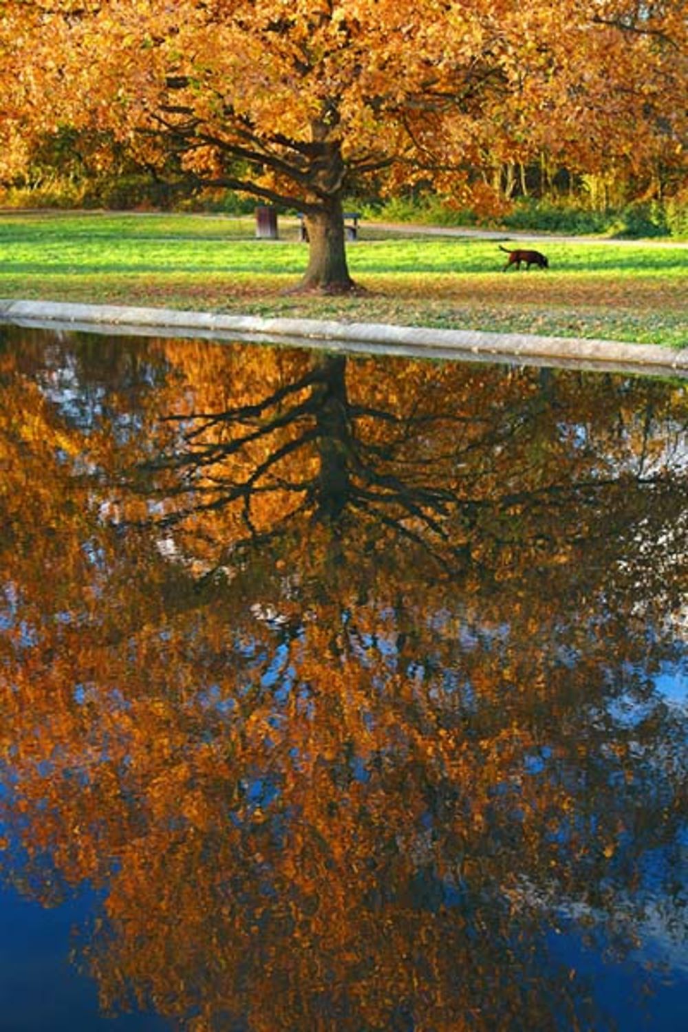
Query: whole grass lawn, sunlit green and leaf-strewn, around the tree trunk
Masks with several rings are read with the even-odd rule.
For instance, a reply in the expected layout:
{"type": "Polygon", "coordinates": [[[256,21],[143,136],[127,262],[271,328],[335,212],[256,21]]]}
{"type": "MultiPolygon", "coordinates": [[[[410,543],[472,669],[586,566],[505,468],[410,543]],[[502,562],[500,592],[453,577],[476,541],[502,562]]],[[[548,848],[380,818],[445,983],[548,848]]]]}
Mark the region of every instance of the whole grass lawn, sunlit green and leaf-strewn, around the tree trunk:
{"type": "MultiPolygon", "coordinates": [[[[0,213],[0,297],[607,337],[688,347],[688,249],[538,243],[550,269],[502,273],[498,241],[366,227],[349,246],[355,297],[290,294],[296,220],[0,213]]],[[[506,239],[506,234],[504,234],[506,239]]],[[[520,245],[512,245],[520,246],[520,245]]]]}

